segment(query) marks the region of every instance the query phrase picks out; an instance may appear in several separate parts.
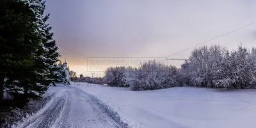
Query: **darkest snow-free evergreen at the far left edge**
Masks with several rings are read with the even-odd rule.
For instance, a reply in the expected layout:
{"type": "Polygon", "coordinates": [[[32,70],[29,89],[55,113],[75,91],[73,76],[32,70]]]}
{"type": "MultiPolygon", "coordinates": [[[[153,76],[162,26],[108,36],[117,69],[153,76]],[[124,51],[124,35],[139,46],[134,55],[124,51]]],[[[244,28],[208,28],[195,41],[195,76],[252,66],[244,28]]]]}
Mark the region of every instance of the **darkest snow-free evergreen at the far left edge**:
{"type": "MultiPolygon", "coordinates": [[[[19,83],[15,87],[28,90],[35,53],[40,45],[36,16],[27,1],[1,1],[1,101],[4,78],[19,83]],[[3,8],[2,8],[3,7],[3,8]],[[19,81],[19,82],[17,82],[19,81]]],[[[0,101],[0,102],[1,102],[0,101]]]]}

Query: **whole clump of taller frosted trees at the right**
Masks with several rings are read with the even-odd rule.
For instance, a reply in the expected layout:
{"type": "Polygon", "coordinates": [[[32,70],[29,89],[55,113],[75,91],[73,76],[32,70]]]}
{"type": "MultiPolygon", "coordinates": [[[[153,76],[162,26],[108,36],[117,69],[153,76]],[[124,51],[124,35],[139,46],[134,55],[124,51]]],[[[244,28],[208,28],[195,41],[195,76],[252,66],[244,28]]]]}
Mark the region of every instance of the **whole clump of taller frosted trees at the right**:
{"type": "Polygon", "coordinates": [[[218,45],[203,46],[193,50],[189,62],[182,65],[181,78],[191,86],[254,89],[255,59],[255,48],[239,45],[228,52],[218,45]]]}

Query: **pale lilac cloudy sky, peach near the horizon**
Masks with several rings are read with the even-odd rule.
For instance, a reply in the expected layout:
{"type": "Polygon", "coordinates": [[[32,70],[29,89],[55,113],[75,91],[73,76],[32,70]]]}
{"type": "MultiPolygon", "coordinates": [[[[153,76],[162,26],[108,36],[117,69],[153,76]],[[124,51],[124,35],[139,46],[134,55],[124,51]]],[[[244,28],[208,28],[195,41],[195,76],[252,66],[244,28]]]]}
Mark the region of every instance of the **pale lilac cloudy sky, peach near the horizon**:
{"type": "MultiPolygon", "coordinates": [[[[86,72],[86,57],[168,57],[256,22],[255,6],[255,0],[46,1],[60,59],[67,59],[77,75],[86,72]]],[[[238,43],[256,46],[255,40],[256,23],[205,45],[221,44],[232,50],[238,43]]],[[[191,50],[169,58],[188,59],[191,50]]],[[[168,62],[178,67],[182,63],[168,62]]],[[[92,76],[91,72],[84,76],[92,76]]]]}

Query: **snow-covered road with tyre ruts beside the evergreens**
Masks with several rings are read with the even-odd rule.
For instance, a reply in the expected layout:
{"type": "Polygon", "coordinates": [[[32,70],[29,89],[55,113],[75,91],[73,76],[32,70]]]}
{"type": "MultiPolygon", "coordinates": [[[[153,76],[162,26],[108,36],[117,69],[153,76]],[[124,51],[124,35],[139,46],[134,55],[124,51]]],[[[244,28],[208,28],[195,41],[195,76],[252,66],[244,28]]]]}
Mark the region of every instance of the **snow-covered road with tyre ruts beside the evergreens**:
{"type": "Polygon", "coordinates": [[[52,99],[42,110],[17,127],[120,127],[94,104],[88,94],[67,85],[52,87],[52,99]]]}

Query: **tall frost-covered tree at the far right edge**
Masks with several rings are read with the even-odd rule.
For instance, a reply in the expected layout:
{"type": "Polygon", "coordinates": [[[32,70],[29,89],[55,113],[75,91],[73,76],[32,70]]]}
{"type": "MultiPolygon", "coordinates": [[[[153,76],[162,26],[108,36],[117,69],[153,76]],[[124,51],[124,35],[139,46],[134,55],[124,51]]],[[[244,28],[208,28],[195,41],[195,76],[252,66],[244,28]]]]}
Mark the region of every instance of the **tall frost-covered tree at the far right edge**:
{"type": "Polygon", "coordinates": [[[215,72],[214,87],[232,89],[252,89],[253,80],[253,56],[244,46],[238,46],[237,50],[230,54],[227,52],[220,64],[212,71],[215,72]]]}

